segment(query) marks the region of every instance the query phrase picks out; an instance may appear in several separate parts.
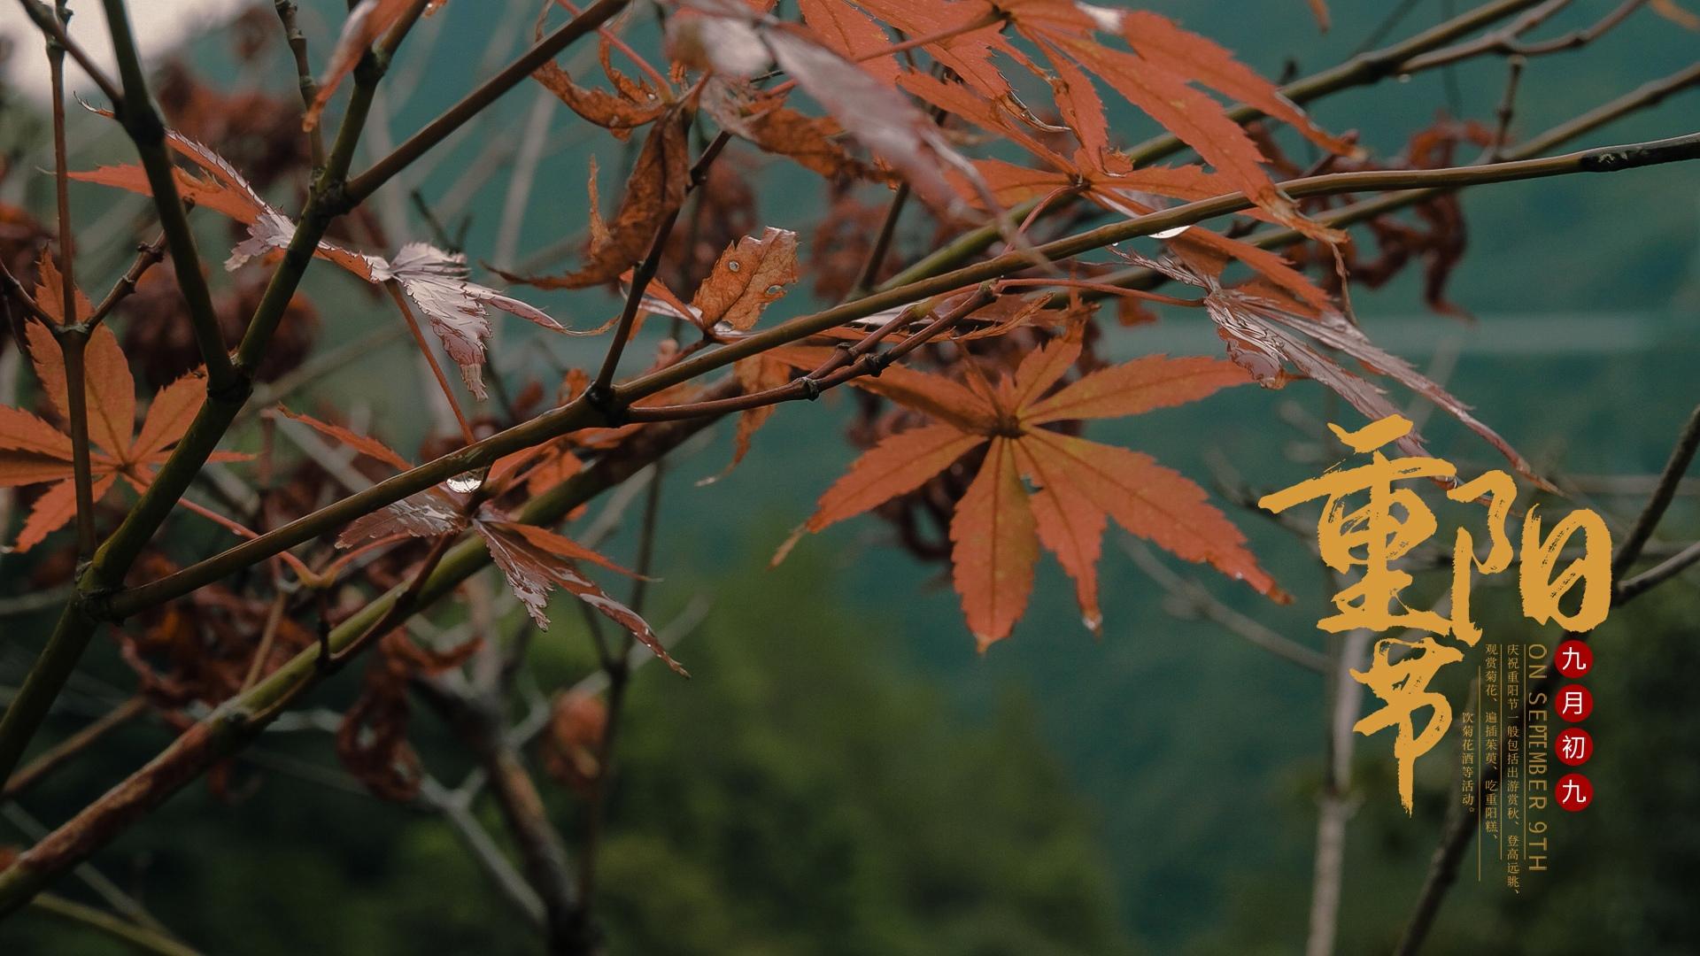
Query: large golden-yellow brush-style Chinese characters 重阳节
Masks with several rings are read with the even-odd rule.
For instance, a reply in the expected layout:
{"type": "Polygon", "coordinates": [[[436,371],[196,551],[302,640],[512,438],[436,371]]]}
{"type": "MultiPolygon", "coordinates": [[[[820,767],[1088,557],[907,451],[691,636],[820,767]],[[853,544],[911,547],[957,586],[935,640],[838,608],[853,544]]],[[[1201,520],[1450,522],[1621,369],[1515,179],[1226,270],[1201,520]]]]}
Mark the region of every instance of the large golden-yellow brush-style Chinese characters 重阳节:
{"type": "MultiPolygon", "coordinates": [[[[1411,422],[1399,415],[1389,415],[1357,432],[1346,432],[1340,425],[1329,429],[1352,451],[1370,454],[1370,463],[1331,468],[1318,478],[1265,495],[1258,507],[1278,514],[1304,502],[1324,502],[1318,522],[1323,563],[1340,573],[1357,570],[1358,577],[1333,597],[1334,614],[1318,621],[1318,628],[1329,633],[1382,633],[1401,628],[1408,634],[1375,641],[1368,670],[1353,670],[1352,677],[1382,701],[1382,708],[1362,718],[1353,730],[1365,735],[1397,730],[1394,759],[1399,767],[1399,800],[1409,813],[1413,765],[1452,725],[1452,704],[1445,694],[1431,691],[1430,682],[1443,665],[1464,660],[1457,646],[1442,643],[1440,638],[1452,636],[1465,646],[1481,641],[1482,631],[1470,621],[1470,582],[1476,572],[1493,575],[1511,566],[1513,551],[1504,526],[1516,498],[1516,485],[1504,471],[1488,471],[1472,481],[1457,483],[1457,468],[1438,458],[1389,459],[1380,449],[1411,434],[1411,422]],[[1469,529],[1460,527],[1454,539],[1447,614],[1414,611],[1401,599],[1411,575],[1394,561],[1438,531],[1435,512],[1418,493],[1397,487],[1409,480],[1440,481],[1448,485],[1448,498],[1477,502],[1488,509],[1486,556],[1477,556],[1476,538],[1469,529]],[[1367,500],[1353,507],[1348,498],[1358,495],[1367,500]],[[1425,709],[1428,716],[1418,726],[1425,709]]],[[[1535,512],[1537,507],[1530,505],[1523,519],[1518,577],[1523,614],[1537,623],[1557,621],[1571,631],[1588,631],[1605,619],[1612,602],[1612,541],[1605,522],[1591,510],[1576,510],[1542,539],[1535,512]],[[1559,570],[1564,548],[1578,532],[1583,536],[1581,555],[1559,570]],[[1566,612],[1559,602],[1576,587],[1581,587],[1581,602],[1574,612],[1566,612]]]]}

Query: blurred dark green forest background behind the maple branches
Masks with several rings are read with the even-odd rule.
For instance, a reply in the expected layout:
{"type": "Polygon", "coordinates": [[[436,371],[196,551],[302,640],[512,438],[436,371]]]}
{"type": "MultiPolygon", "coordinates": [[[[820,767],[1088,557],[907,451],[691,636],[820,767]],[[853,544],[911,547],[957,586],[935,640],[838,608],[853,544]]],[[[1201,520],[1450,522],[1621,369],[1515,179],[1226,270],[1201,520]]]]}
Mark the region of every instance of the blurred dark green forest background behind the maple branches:
{"type": "MultiPolygon", "coordinates": [[[[1608,2],[1576,3],[1552,31],[1588,24],[1608,2]]],[[[87,3],[78,3],[87,7],[87,3]]],[[[170,15],[138,3],[136,17],[170,15]]],[[[264,10],[270,17],[269,3],[264,10]]],[[[306,3],[320,51],[335,36],[342,3],[306,3]]],[[[1161,12],[1232,48],[1265,75],[1302,75],[1350,56],[1399,7],[1392,36],[1454,12],[1447,0],[1336,2],[1319,36],[1299,0],[1153,2],[1161,12]]],[[[80,14],[99,20],[95,9],[80,14]]],[[[422,24],[398,66],[406,80],[381,104],[388,124],[366,146],[428,119],[500,56],[529,37],[529,3],[449,3],[422,24]],[[500,7],[500,12],[496,10],[500,7]],[[495,51],[495,54],[491,54],[495,51]],[[418,70],[430,61],[432,70],[418,70]],[[400,95],[405,90],[406,95],[400,95]]],[[[221,94],[289,94],[275,34],[246,63],[231,32],[209,20],[182,51],[182,68],[221,94]]],[[[275,29],[275,22],[269,24],[275,29]]],[[[42,71],[34,34],[14,31],[8,75],[42,71]]],[[[1700,36],[1658,17],[1635,17],[1579,54],[1530,63],[1513,136],[1532,134],[1639,83],[1692,63],[1700,36]]],[[[1491,124],[1503,88],[1496,63],[1389,80],[1312,107],[1329,129],[1358,129],[1377,150],[1436,111],[1491,124]]],[[[39,100],[5,90],[0,143],[8,202],[48,209],[51,167],[39,100]]],[[[547,97],[522,87],[413,187],[452,230],[464,219],[473,262],[552,269],[549,248],[585,218],[585,163],[605,148],[547,97]],[[513,204],[524,133],[549,122],[536,175],[513,204]],[[479,160],[479,156],[493,156],[479,160]],[[488,162],[478,189],[459,189],[468,163],[488,162]]],[[[1583,145],[1690,133],[1700,94],[1613,124],[1583,145]]],[[[1146,128],[1124,117],[1122,139],[1146,128]]],[[[71,119],[78,168],[122,158],[116,129],[71,119]]],[[[604,156],[617,168],[617,151],[604,156]]],[[[755,168],[746,172],[756,172],[755,168]]],[[[758,225],[799,228],[821,213],[819,191],[782,162],[760,167],[768,196],[758,225]],[[785,191],[785,180],[797,189],[785,191]],[[794,199],[790,199],[794,197],[794,199]]],[[[73,194],[90,250],[109,247],[107,274],[128,259],[144,199],[99,187],[73,194]]],[[[422,233],[401,191],[381,209],[388,223],[422,233]]],[[[1617,490],[1663,464],[1681,420],[1700,400],[1700,179],[1688,165],[1613,177],[1569,177],[1484,187],[1464,199],[1470,253],[1452,299],[1476,320],[1430,313],[1418,276],[1377,291],[1357,289],[1370,335],[1387,350],[1443,376],[1481,417],[1574,492],[1578,505],[1624,519],[1640,504],[1617,490]]],[[[221,223],[204,223],[223,230],[221,223]]],[[[416,235],[415,238],[427,238],[416,235]]],[[[398,240],[400,242],[400,240],[398,240]]],[[[903,248],[923,250],[923,228],[903,248]]],[[[570,247],[566,247],[570,248],[570,247]]],[[[566,252],[563,248],[561,252],[566,252]]],[[[97,252],[85,252],[95,257],[97,252]]],[[[87,267],[85,286],[100,269],[87,267]]],[[[320,316],[320,347],[357,342],[394,316],[352,282],[314,269],[306,281],[320,316]]],[[[787,301],[801,311],[802,291],[787,301]]],[[[597,325],[614,299],[586,311],[595,293],[536,294],[573,325],[597,325]],[[558,296],[558,298],[554,298],[558,296]],[[571,303],[571,304],[568,304],[571,303]]],[[[600,356],[602,344],[498,330],[495,367],[510,386],[552,388],[563,367],[600,356]],[[530,347],[537,345],[537,347],[530,347]]],[[[428,418],[428,383],[401,337],[325,379],[299,400],[355,408],[403,451],[428,418]]],[[[1166,316],[1117,333],[1112,357],[1144,352],[1216,354],[1197,318],[1166,316]]],[[[5,396],[10,400],[12,396],[5,396]]],[[[1209,483],[1231,468],[1256,490],[1312,475],[1340,458],[1316,441],[1314,422],[1352,412],[1321,388],[1282,393],[1236,390],[1207,405],[1137,418],[1110,441],[1149,449],[1209,483]],[[1214,451],[1212,451],[1214,449],[1214,451]]],[[[729,454],[729,429],[670,464],[656,570],[654,614],[697,621],[677,648],[694,679],[639,672],[622,730],[605,847],[605,919],[615,953],[1294,953],[1306,932],[1316,793],[1323,774],[1324,680],[1272,657],[1209,621],[1170,614],[1164,589],[1107,548],[1102,573],[1105,636],[1085,633],[1071,589],[1042,565],[1034,607],[1013,640],[988,655],[960,624],[940,568],[889,544],[889,529],[850,522],[799,546],[765,570],[785,531],[842,473],[853,449],[840,430],[848,403],[787,407],[756,439],[745,464],[697,487],[729,454]]],[[[1464,473],[1489,468],[1484,447],[1452,422],[1430,420],[1436,454],[1464,473]]],[[[240,441],[238,441],[240,444],[240,441]]],[[[1690,480],[1693,481],[1693,480],[1690,480]]],[[[1700,534],[1685,488],[1664,536],[1700,534]]],[[[1314,623],[1331,594],[1302,543],[1251,514],[1236,521],[1265,566],[1299,595],[1292,607],[1222,600],[1282,634],[1324,648],[1314,623]]],[[[211,538],[212,531],[206,531],[211,538]]],[[[8,532],[10,536],[10,532],[8,532]]],[[[631,551],[629,531],[605,548],[631,551]]],[[[0,684],[12,684],[46,633],[51,609],[27,611],[39,556],[0,555],[0,684]]],[[[1176,568],[1190,573],[1187,568],[1176,568]]],[[[1420,578],[1438,594],[1440,577],[1420,578]]],[[[1496,590],[1482,599],[1488,640],[1549,641],[1496,590]]],[[[1692,862],[1700,857],[1700,716],[1686,706],[1700,674],[1695,641],[1700,589],[1693,577],[1618,612],[1598,634],[1596,699],[1590,730],[1600,755],[1588,772],[1598,806],[1556,820],[1552,871],[1503,886],[1489,859],[1472,869],[1442,913],[1433,953],[1692,953],[1700,912],[1692,862]]],[[[590,652],[571,616],[539,636],[529,675],[542,691],[571,684],[590,652]]],[[[354,694],[359,669],[320,691],[335,706],[354,694]]],[[[1474,672],[1452,669],[1462,696],[1474,672]]],[[[134,677],[110,643],[97,643],[65,697],[58,731],[104,713],[134,677]]],[[[445,781],[464,772],[428,714],[413,721],[427,767],[445,781]]],[[[26,842],[31,820],[56,823],[100,793],[163,726],[131,726],[22,805],[0,813],[0,844],[26,842]]],[[[1392,791],[1387,735],[1360,738],[1357,798],[1348,837],[1341,953],[1391,947],[1423,879],[1442,813],[1454,796],[1457,731],[1418,764],[1418,808],[1406,818],[1392,791]]],[[[97,862],[167,925],[209,953],[520,953],[529,934],[486,886],[454,832],[434,813],[398,811],[337,769],[326,733],[303,726],[269,733],[231,769],[228,801],[190,788],[97,862]]],[[[554,813],[575,813],[573,794],[549,794],[554,813]]],[[[493,810],[484,808],[491,813],[493,810]]],[[[1491,852],[1491,847],[1489,847],[1491,852]]],[[[102,937],[39,912],[0,924],[0,951],[112,953],[102,937]]]]}

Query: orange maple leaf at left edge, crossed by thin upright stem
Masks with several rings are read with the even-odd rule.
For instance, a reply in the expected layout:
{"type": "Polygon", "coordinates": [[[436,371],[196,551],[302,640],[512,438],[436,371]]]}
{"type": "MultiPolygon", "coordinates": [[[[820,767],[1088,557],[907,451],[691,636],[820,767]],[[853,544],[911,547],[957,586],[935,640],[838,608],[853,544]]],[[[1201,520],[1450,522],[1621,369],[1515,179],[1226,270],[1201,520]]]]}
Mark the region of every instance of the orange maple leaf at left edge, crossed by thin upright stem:
{"type": "MultiPolygon", "coordinates": [[[[63,322],[60,272],[46,255],[39,269],[37,304],[63,322]]],[[[76,293],[78,315],[94,310],[76,293]]],[[[29,357],[36,376],[60,420],[70,422],[65,357],[53,332],[39,322],[26,327],[29,357]]],[[[153,481],[153,469],[170,458],[172,446],[184,437],[189,424],[206,401],[206,376],[199,369],[162,388],[148,405],[148,415],[136,429],[136,379],[124,361],[117,337],[105,325],[95,327],[83,345],[83,390],[88,420],[88,475],[94,502],[100,502],[122,478],[141,492],[153,481]]],[[[241,461],[246,456],[214,452],[207,461],[241,461]]],[[[0,487],[53,483],[36,498],[17,541],[15,551],[27,551],[76,515],[76,481],[71,466],[71,437],[22,408],[0,407],[0,487]]]]}

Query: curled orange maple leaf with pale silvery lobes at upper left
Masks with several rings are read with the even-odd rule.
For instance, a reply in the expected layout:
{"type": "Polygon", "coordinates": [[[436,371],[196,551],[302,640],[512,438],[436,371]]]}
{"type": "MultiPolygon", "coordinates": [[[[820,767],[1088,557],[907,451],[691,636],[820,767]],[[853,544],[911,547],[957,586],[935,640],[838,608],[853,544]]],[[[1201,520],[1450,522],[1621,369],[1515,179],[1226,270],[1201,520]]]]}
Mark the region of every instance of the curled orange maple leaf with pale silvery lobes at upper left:
{"type": "MultiPolygon", "coordinates": [[[[110,116],[105,111],[95,111],[110,116]]],[[[223,156],[194,139],[168,129],[167,143],[189,158],[204,175],[172,167],[178,191],[197,206],[216,209],[248,226],[248,238],[231,248],[226,270],[236,270],[250,259],[289,248],[296,225],[269,204],[246,179],[223,156]]],[[[150,196],[148,175],[139,165],[100,167],[71,172],[71,179],[97,182],[150,196]]],[[[432,332],[449,357],[461,367],[466,388],[486,398],[483,383],[484,340],[490,339],[490,308],[517,315],[551,332],[593,335],[600,330],[573,330],[549,318],[542,310],[471,281],[466,255],[449,253],[423,242],[410,242],[394,259],[367,255],[321,240],[313,255],[333,262],[372,284],[396,282],[408,299],[430,318],[432,332]]]]}

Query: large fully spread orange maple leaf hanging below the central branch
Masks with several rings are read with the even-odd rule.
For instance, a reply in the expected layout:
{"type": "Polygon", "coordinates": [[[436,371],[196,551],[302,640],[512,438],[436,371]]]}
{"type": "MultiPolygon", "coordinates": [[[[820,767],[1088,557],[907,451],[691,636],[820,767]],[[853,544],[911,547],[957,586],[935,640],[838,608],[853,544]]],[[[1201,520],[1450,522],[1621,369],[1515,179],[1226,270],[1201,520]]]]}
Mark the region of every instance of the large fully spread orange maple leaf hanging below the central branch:
{"type": "MultiPolygon", "coordinates": [[[[824,349],[796,349],[801,364],[824,349]]],[[[898,432],[858,458],[821,495],[804,531],[821,531],[920,488],[984,446],[984,459],[950,521],[952,580],[981,650],[1027,609],[1039,548],[1074,580],[1085,624],[1098,631],[1096,563],[1108,521],[1188,561],[1204,561],[1275,600],[1285,594],[1258,566],[1244,536],[1204,488],[1146,454],[1066,435],[1057,422],[1137,415],[1195,401],[1250,376],[1232,362],[1148,356],[1051,391],[1081,354],[1078,333],[1022,359],[996,386],[964,386],[901,366],[852,384],[937,424],[898,432]],[[1049,395],[1047,395],[1049,393],[1049,395]],[[1025,478],[1025,481],[1023,481],[1025,478]],[[1028,487],[1032,483],[1032,487],[1028,487]]]]}

